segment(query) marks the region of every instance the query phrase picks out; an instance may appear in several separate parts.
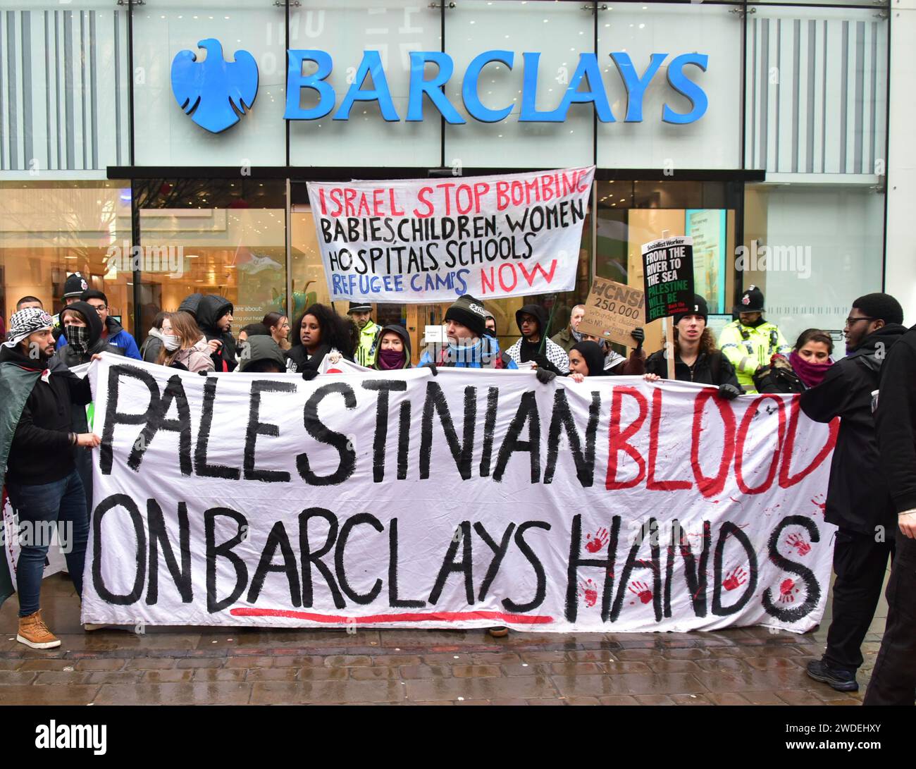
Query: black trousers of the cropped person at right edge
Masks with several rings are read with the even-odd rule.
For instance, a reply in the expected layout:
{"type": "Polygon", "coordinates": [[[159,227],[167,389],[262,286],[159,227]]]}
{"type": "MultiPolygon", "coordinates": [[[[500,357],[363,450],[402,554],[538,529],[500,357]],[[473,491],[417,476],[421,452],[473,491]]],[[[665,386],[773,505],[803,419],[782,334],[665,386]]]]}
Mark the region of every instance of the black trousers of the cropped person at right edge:
{"type": "Polygon", "coordinates": [[[888,624],[864,705],[912,705],[916,691],[916,540],[897,532],[888,624]]]}

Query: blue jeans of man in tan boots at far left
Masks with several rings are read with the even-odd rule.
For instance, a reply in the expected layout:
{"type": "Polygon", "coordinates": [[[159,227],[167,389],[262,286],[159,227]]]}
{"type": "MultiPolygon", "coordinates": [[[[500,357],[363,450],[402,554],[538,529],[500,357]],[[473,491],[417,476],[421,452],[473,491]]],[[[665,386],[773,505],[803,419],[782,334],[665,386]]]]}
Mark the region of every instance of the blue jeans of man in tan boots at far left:
{"type": "Polygon", "coordinates": [[[60,544],[66,551],[73,587],[82,598],[82,566],[86,560],[89,515],[79,473],[73,470],[67,478],[35,486],[7,483],[6,492],[19,516],[22,543],[16,565],[19,616],[27,617],[40,609],[41,577],[48,556],[49,534],[55,522],[60,544]]]}

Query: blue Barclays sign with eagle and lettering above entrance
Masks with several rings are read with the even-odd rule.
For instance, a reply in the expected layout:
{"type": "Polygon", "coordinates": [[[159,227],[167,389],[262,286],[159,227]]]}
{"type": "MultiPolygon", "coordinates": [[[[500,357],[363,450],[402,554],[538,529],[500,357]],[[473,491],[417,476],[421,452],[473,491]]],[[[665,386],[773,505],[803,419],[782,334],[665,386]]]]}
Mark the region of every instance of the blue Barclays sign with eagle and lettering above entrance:
{"type": "MultiPolygon", "coordinates": [[[[238,115],[244,114],[254,104],[257,93],[257,65],[245,50],[235,51],[235,61],[223,60],[223,49],[219,42],[210,38],[198,44],[207,49],[207,59],[199,62],[190,50],[183,50],[172,62],[172,92],[181,108],[192,115],[198,125],[218,133],[238,122],[238,115]],[[210,64],[213,60],[213,64],[210,64]],[[208,67],[208,65],[210,65],[208,67]]],[[[610,54],[616,65],[617,74],[627,92],[625,123],[640,123],[643,120],[643,98],[649,83],[656,77],[662,64],[668,60],[667,53],[653,53],[649,64],[640,73],[626,51],[610,54]]],[[[382,60],[376,50],[366,50],[356,71],[353,84],[337,104],[337,93],[328,77],[333,71],[331,54],[318,49],[290,49],[287,51],[287,102],[284,117],[287,120],[318,120],[333,113],[333,120],[349,120],[357,102],[376,102],[382,117],[389,122],[406,120],[422,121],[424,95],[446,122],[459,125],[466,123],[463,115],[444,93],[444,86],[452,79],[454,62],[442,51],[411,51],[409,73],[409,95],[407,111],[398,115],[394,100],[387,84],[382,60]],[[317,70],[302,74],[306,62],[313,62],[317,70]],[[435,75],[426,79],[428,63],[437,68],[435,75]],[[370,81],[367,84],[367,81],[370,81]],[[318,95],[318,102],[311,107],[300,104],[303,90],[318,95]]],[[[686,112],[676,111],[670,104],[664,104],[661,120],[673,125],[686,125],[699,120],[709,104],[706,93],[688,76],[687,71],[704,72],[709,57],[702,53],[682,53],[667,63],[666,79],[671,93],[680,94],[690,104],[686,112]]],[[[462,103],[465,112],[482,123],[498,123],[513,112],[515,104],[491,108],[480,98],[478,82],[482,72],[491,64],[502,64],[509,71],[515,67],[516,54],[511,50],[487,50],[468,64],[461,82],[462,103]]],[[[616,123],[611,112],[610,101],[601,76],[598,58],[594,53],[581,53],[573,76],[562,95],[560,104],[553,109],[538,109],[538,69],[540,53],[521,54],[521,107],[518,121],[523,123],[562,123],[566,120],[573,104],[592,104],[595,115],[603,123],[616,123]],[[584,87],[583,87],[584,86],[584,87]]]]}

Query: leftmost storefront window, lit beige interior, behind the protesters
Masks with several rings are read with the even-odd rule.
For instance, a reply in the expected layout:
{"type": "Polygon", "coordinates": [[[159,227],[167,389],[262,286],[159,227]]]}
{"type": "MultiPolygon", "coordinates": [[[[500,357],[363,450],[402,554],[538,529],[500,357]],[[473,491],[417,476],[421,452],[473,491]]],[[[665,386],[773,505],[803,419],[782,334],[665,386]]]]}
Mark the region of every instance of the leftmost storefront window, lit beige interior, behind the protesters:
{"type": "Polygon", "coordinates": [[[130,247],[126,181],[0,182],[0,314],[35,296],[49,313],[63,306],[67,276],[80,272],[104,291],[109,314],[133,331],[134,279],[116,259],[130,247]]]}

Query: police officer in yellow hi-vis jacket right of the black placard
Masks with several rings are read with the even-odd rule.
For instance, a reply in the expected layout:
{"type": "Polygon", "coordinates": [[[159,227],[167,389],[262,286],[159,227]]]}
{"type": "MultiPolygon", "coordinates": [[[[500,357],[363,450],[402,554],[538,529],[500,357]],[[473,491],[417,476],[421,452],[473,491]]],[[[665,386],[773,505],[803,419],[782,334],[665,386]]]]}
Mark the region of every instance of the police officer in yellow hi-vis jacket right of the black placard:
{"type": "Polygon", "coordinates": [[[789,355],[790,346],[779,326],[763,319],[763,292],[751,286],[741,296],[732,313],[737,320],[722,329],[719,347],[737,372],[738,383],[746,392],[757,392],[754,374],[763,368],[774,354],[789,355]]]}

